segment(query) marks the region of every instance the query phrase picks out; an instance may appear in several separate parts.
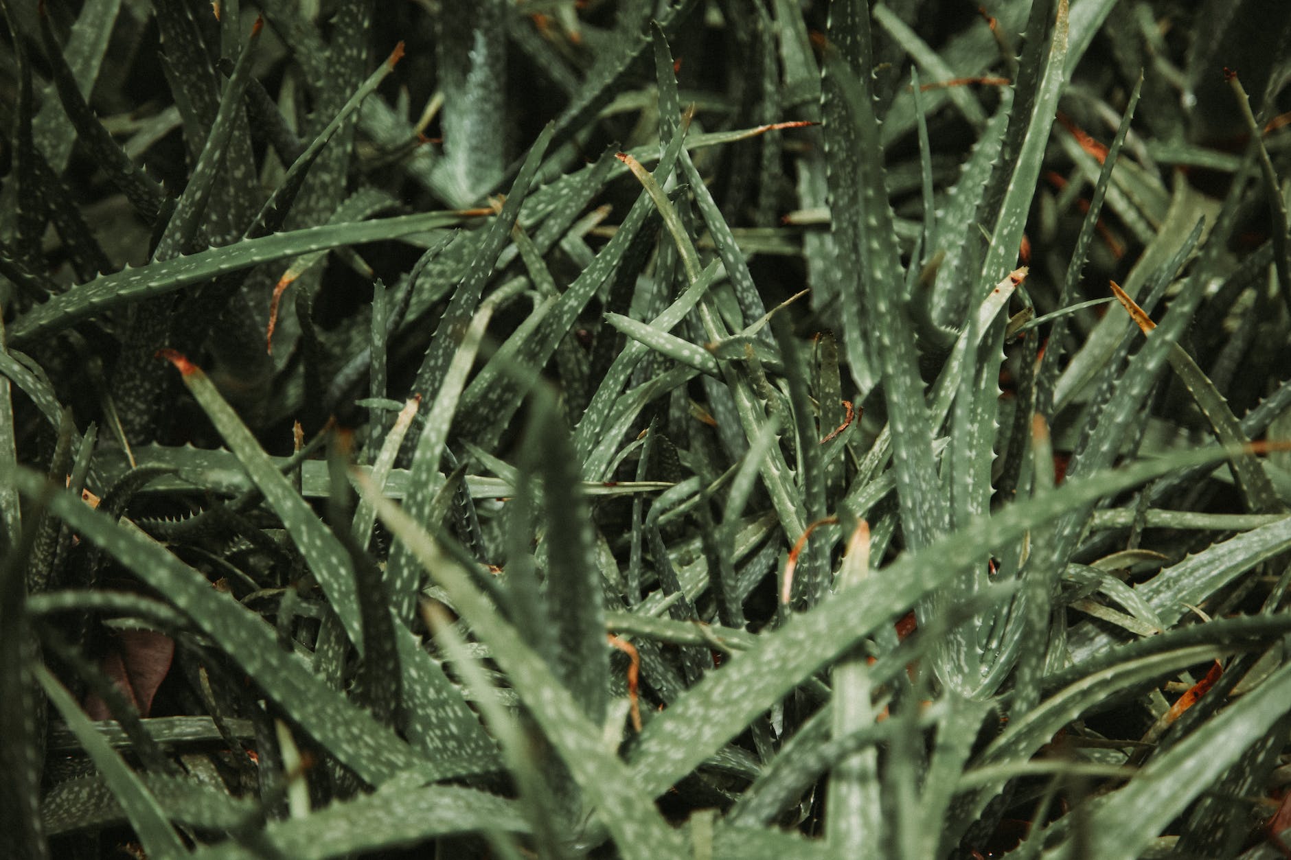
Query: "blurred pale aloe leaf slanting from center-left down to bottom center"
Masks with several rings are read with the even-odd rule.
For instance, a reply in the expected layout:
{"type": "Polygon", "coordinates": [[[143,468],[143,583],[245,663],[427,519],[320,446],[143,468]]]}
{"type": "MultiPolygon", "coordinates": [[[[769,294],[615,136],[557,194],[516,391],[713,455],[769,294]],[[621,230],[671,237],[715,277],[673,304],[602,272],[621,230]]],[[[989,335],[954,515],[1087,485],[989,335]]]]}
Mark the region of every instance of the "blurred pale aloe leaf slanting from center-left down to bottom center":
{"type": "Polygon", "coordinates": [[[532,702],[529,713],[559,750],[585,795],[596,798],[599,817],[613,833],[620,852],[629,859],[679,852],[676,834],[655,808],[651,797],[638,788],[627,766],[598,744],[599,732],[546,662],[475,589],[466,571],[443,555],[429,535],[374,493],[371,486],[360,483],[360,487],[377,507],[382,522],[409,545],[427,572],[452,597],[457,611],[489,646],[493,660],[507,673],[522,701],[532,702]]]}

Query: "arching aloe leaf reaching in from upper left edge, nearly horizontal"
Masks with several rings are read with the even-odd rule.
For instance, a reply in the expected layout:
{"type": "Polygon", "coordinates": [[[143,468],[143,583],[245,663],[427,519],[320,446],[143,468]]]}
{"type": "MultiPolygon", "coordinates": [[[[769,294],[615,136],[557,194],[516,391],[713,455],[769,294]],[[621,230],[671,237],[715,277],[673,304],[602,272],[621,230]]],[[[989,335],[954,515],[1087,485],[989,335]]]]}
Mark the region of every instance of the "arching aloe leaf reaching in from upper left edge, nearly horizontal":
{"type": "Polygon", "coordinates": [[[209,248],[165,262],[125,269],[77,284],[52,297],[44,305],[31,309],[9,325],[9,342],[17,346],[105,311],[163,296],[239,269],[342,245],[398,239],[451,226],[460,218],[461,216],[456,213],[425,212],[377,221],[306,227],[240,241],[226,248],[209,248]]]}

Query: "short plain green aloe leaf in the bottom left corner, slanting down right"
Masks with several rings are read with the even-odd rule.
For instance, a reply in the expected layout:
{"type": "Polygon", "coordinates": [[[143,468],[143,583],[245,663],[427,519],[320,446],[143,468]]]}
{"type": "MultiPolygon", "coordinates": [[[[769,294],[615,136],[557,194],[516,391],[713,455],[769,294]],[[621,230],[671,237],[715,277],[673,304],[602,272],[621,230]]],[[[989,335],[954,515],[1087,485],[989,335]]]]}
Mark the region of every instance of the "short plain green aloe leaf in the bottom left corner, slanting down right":
{"type": "Polygon", "coordinates": [[[179,835],[167,821],[161,804],[121,757],[94,731],[89,718],[85,717],[67,688],[58,683],[58,679],[44,666],[36,666],[35,674],[45,695],[62,714],[68,728],[76,733],[77,740],[103,775],[103,780],[112,789],[112,794],[129,817],[134,833],[139,837],[148,856],[178,857],[187,854],[179,835]]]}

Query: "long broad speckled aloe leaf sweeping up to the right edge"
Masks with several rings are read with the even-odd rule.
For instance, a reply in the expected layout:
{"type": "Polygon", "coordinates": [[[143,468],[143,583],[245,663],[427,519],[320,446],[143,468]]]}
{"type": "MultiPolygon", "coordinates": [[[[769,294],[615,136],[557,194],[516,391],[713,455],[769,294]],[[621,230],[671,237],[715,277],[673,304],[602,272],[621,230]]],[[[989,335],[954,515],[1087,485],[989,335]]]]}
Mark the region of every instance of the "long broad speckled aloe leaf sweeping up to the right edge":
{"type": "Polygon", "coordinates": [[[1185,464],[1216,462],[1224,456],[1224,451],[1215,448],[1180,452],[1073,479],[1039,498],[1010,505],[923,550],[906,553],[880,575],[809,612],[791,616],[775,633],[759,637],[757,646],[705,675],[684,699],[651,721],[642,732],[633,754],[634,773],[648,792],[665,790],[811,673],[950,581],[973,559],[1121,488],[1185,464]],[[846,633],[840,635],[839,631],[846,633]]]}

